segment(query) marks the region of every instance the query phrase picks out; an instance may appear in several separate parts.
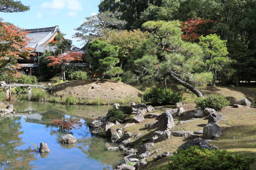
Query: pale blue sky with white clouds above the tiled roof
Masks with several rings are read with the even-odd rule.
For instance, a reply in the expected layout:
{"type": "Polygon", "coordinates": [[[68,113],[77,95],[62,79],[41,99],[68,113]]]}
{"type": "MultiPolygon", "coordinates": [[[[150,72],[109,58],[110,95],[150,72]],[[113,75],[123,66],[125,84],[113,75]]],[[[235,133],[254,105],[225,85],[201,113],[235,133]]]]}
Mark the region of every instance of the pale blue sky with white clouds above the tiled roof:
{"type": "Polygon", "coordinates": [[[24,29],[53,27],[59,25],[60,31],[66,34],[73,44],[82,47],[82,41],[72,38],[85,17],[98,13],[100,0],[19,0],[29,5],[30,10],[19,13],[0,12],[4,22],[11,22],[24,29]]]}

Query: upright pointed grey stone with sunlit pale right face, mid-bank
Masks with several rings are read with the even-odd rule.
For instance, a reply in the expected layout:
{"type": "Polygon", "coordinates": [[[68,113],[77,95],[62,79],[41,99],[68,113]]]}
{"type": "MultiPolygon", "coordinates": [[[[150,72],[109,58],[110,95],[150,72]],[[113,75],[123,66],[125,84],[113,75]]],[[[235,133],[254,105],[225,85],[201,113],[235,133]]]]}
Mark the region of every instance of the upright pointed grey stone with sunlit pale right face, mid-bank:
{"type": "Polygon", "coordinates": [[[158,131],[170,130],[174,127],[173,117],[170,112],[164,112],[157,117],[158,120],[158,131]]]}

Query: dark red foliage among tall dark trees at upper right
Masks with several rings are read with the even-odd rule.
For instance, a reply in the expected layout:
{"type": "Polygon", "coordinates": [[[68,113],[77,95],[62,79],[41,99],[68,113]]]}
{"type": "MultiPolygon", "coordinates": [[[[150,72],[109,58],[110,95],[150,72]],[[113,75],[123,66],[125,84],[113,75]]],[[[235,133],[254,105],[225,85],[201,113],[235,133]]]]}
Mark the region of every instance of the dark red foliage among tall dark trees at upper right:
{"type": "Polygon", "coordinates": [[[182,22],[182,31],[183,35],[182,39],[185,41],[197,42],[198,38],[202,35],[209,35],[215,31],[211,30],[211,27],[217,21],[214,20],[204,20],[202,18],[192,18],[188,19],[188,21],[182,22]]]}

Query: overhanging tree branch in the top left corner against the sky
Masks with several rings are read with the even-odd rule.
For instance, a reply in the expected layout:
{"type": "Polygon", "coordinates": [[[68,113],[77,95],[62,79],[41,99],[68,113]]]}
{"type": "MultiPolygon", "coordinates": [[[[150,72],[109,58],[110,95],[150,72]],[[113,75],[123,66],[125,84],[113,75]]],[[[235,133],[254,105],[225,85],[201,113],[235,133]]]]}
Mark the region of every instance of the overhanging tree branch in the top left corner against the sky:
{"type": "Polygon", "coordinates": [[[29,10],[29,6],[23,5],[20,1],[0,0],[0,12],[25,12],[29,10]]]}

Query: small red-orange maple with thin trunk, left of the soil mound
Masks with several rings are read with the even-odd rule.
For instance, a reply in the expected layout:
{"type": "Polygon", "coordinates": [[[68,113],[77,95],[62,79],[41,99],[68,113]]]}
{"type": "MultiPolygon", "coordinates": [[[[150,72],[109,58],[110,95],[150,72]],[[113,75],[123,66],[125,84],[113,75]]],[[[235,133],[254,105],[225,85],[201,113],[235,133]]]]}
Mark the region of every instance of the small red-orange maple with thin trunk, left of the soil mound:
{"type": "Polygon", "coordinates": [[[69,61],[82,61],[82,53],[80,52],[66,52],[64,54],[59,54],[57,56],[48,56],[46,57],[48,61],[52,61],[49,63],[49,66],[60,65],[62,71],[62,80],[65,81],[65,64],[69,61]]]}

